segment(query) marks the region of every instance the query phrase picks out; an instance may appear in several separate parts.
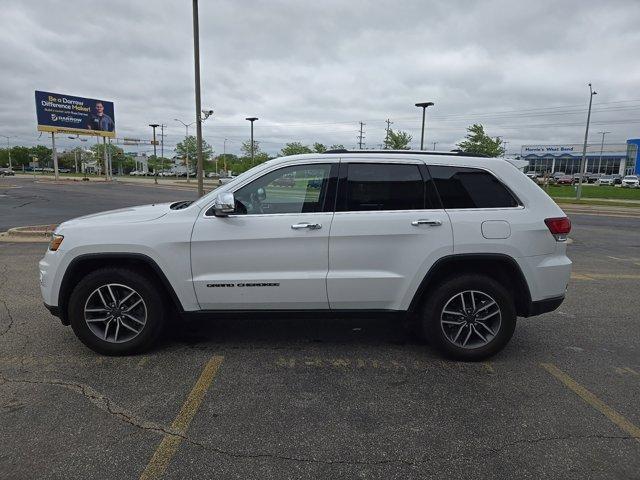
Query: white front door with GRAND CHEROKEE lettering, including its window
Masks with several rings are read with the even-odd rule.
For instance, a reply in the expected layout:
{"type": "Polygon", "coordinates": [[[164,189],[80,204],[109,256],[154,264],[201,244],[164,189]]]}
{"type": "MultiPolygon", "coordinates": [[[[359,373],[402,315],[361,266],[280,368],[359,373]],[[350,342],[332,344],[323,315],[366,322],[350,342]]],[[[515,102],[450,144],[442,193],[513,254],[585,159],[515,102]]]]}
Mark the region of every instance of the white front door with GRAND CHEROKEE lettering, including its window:
{"type": "Polygon", "coordinates": [[[191,241],[204,310],[328,309],[328,239],[337,161],[275,166],[233,192],[236,211],[205,209],[191,241]]]}

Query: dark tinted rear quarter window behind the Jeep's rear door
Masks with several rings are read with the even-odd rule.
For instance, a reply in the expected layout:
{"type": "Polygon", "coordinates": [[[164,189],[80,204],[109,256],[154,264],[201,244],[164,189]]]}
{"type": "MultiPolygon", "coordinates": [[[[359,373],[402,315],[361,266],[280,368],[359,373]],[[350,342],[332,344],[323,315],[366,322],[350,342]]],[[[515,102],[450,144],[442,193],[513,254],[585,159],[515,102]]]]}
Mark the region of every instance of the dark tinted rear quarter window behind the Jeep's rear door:
{"type": "Polygon", "coordinates": [[[519,205],[491,173],[478,168],[429,166],[444,208],[509,208],[519,205]]]}

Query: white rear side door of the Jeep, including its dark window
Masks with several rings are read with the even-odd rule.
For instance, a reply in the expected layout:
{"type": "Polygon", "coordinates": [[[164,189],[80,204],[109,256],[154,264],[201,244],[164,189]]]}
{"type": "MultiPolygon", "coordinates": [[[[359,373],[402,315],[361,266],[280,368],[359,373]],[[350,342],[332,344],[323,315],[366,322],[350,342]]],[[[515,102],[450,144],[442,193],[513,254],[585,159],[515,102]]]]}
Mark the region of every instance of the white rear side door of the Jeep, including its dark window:
{"type": "Polygon", "coordinates": [[[433,263],[453,252],[449,217],[422,161],[341,162],[329,239],[331,309],[405,310],[433,263]]]}

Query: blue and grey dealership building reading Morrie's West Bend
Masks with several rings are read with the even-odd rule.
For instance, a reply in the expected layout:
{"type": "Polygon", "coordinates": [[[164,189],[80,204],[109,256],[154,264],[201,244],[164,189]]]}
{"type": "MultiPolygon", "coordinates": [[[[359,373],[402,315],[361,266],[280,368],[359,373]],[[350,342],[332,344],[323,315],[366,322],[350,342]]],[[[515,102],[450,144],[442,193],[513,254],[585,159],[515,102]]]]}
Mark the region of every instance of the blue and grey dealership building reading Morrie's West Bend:
{"type": "MultiPolygon", "coordinates": [[[[580,171],[581,144],[523,145],[520,158],[529,162],[528,170],[536,172],[580,171]]],[[[586,172],[619,175],[640,175],[640,138],[626,143],[587,145],[586,172]]],[[[525,169],[526,170],[526,169],[525,169]]]]}

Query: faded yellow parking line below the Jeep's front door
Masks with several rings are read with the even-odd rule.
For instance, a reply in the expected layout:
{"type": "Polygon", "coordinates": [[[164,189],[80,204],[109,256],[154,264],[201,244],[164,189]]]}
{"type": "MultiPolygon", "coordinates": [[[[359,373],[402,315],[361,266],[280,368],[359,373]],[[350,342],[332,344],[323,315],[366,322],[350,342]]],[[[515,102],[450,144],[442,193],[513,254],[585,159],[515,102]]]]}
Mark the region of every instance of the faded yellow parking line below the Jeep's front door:
{"type": "Polygon", "coordinates": [[[180,413],[178,413],[178,416],[171,424],[171,430],[176,432],[176,434],[166,434],[162,438],[162,441],[160,442],[160,445],[158,445],[153,457],[151,457],[151,460],[149,460],[144,472],[140,475],[140,480],[160,478],[167,469],[169,462],[171,462],[171,459],[178,450],[180,442],[182,442],[182,436],[187,433],[189,424],[198,411],[198,408],[202,403],[202,399],[204,398],[204,394],[207,393],[207,390],[213,383],[213,379],[218,373],[218,369],[220,368],[220,365],[222,365],[223,360],[224,357],[214,355],[204,367],[204,370],[202,370],[202,373],[200,374],[200,378],[198,378],[198,381],[193,386],[189,396],[182,405],[180,413]]]}

